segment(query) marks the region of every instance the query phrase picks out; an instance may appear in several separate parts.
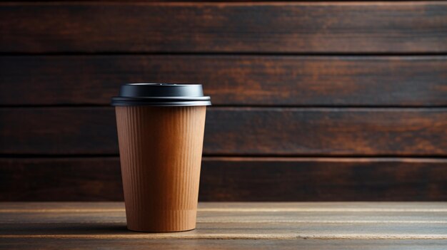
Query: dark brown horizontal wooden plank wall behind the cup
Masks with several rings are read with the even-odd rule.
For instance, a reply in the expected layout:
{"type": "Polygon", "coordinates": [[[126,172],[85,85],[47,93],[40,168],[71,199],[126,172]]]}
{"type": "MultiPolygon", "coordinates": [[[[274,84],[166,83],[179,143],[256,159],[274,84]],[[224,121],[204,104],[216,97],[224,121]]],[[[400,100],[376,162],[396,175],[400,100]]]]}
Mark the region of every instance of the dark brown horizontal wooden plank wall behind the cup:
{"type": "Polygon", "coordinates": [[[121,83],[203,83],[202,201],[447,199],[447,1],[0,2],[0,200],[121,200],[121,83]]]}

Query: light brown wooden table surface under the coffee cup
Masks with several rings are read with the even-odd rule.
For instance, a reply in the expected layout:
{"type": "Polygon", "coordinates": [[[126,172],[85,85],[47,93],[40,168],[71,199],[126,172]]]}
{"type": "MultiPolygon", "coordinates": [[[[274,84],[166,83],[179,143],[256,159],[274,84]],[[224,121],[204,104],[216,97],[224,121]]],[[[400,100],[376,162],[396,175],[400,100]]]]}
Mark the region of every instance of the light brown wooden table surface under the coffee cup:
{"type": "Polygon", "coordinates": [[[447,249],[447,202],[200,203],[197,228],[128,231],[122,202],[0,203],[1,249],[447,249]]]}

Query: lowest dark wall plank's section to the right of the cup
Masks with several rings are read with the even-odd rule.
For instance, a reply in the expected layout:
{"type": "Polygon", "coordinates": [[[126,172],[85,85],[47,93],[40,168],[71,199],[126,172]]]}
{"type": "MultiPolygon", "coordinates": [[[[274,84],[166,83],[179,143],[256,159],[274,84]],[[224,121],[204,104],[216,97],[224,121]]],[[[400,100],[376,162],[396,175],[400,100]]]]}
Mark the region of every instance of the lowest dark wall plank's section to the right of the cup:
{"type": "Polygon", "coordinates": [[[445,200],[446,160],[212,160],[201,175],[203,201],[445,200]]]}

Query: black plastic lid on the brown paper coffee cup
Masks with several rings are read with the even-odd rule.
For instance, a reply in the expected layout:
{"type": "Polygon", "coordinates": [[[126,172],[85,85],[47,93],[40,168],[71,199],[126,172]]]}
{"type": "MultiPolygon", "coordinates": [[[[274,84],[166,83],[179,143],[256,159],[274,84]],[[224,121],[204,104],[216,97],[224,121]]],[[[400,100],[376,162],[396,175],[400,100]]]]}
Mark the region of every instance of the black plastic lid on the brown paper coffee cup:
{"type": "Polygon", "coordinates": [[[211,98],[204,96],[201,84],[127,83],[111,105],[204,106],[211,105],[211,98]]]}

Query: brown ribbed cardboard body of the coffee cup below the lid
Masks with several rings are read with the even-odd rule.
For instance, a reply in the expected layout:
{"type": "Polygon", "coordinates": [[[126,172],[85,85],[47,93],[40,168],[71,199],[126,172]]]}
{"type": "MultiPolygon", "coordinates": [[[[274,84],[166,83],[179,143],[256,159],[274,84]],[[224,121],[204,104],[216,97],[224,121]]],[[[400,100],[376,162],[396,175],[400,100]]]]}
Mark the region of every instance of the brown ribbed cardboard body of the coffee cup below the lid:
{"type": "Polygon", "coordinates": [[[117,106],[128,229],[196,227],[206,106],[117,106]]]}

